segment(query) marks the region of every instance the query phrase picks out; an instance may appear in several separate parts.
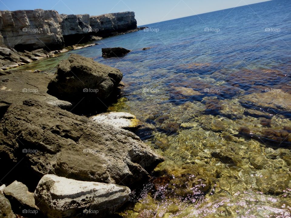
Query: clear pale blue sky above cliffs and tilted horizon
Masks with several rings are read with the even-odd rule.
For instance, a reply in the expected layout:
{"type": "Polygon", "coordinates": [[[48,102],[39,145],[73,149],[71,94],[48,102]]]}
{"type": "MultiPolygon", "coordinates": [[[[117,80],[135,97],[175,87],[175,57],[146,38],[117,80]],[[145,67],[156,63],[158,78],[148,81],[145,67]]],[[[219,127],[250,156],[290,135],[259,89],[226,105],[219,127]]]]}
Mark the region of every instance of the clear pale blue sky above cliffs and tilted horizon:
{"type": "Polygon", "coordinates": [[[0,0],[0,10],[56,10],[60,14],[101,15],[134,11],[146,25],[267,0],[0,0]]]}

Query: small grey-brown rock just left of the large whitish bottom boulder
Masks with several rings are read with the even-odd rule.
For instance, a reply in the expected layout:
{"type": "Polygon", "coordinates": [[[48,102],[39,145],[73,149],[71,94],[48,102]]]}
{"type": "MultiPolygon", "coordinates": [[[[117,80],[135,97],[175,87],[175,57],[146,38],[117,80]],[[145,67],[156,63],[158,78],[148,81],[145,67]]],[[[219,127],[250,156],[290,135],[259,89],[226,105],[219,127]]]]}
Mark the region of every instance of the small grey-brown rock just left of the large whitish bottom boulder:
{"type": "Polygon", "coordinates": [[[14,181],[8,185],[4,189],[4,195],[12,203],[15,212],[20,212],[22,210],[38,210],[38,207],[35,206],[33,193],[29,192],[26,185],[21,182],[14,181]]]}

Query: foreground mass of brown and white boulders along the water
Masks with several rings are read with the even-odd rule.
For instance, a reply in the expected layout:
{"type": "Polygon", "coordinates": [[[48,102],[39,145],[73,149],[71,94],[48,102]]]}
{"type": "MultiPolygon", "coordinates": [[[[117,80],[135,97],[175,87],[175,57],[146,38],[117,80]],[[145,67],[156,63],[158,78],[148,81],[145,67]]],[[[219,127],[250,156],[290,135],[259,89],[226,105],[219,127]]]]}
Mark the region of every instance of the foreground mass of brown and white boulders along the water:
{"type": "Polygon", "coordinates": [[[151,178],[164,158],[129,131],[135,116],[69,112],[110,101],[121,80],[118,69],[77,54],[55,75],[3,71],[1,217],[106,217],[151,178]]]}

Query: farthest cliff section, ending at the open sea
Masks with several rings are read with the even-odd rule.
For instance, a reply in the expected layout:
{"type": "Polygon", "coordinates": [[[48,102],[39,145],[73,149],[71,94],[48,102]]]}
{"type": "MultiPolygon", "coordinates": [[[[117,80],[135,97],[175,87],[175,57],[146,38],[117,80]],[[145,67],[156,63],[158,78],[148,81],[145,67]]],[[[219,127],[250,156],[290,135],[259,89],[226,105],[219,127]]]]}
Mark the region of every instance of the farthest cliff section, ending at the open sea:
{"type": "Polygon", "coordinates": [[[134,17],[134,12],[90,16],[90,25],[93,29],[98,29],[99,34],[127,31],[137,27],[134,17]]]}

